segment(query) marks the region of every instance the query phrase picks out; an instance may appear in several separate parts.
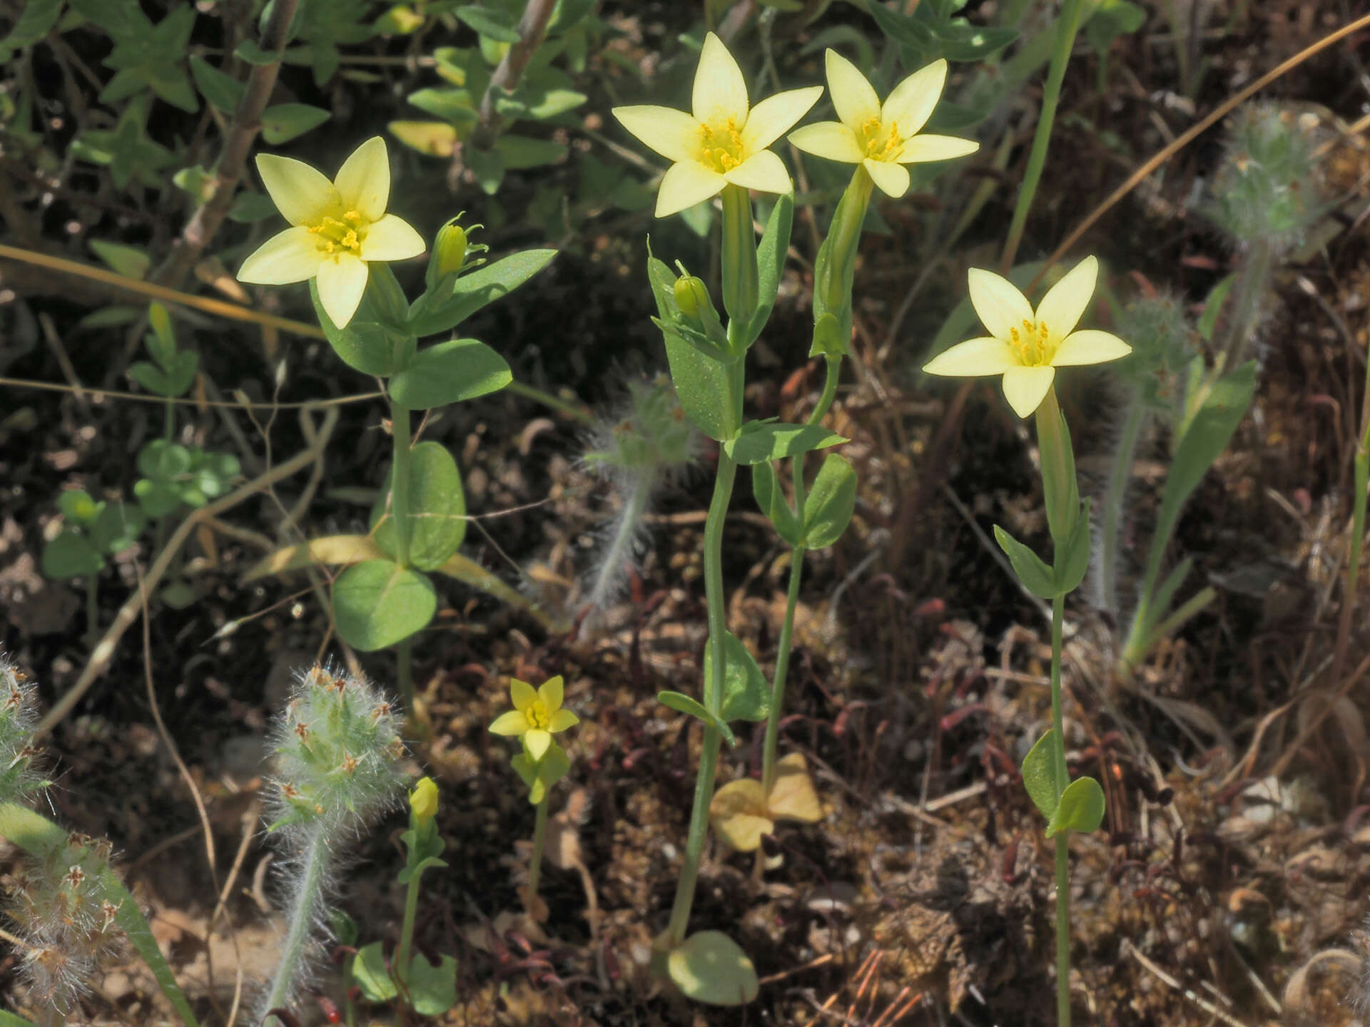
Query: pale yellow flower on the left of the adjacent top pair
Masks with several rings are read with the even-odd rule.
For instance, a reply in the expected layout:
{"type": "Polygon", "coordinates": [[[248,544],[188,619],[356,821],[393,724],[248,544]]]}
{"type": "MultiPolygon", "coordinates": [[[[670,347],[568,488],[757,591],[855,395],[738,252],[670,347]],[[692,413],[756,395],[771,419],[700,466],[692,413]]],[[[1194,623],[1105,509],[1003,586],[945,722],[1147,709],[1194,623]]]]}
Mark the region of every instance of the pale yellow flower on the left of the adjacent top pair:
{"type": "Polygon", "coordinates": [[[714,33],[695,70],[693,114],[670,107],[615,107],[614,116],[630,133],[674,163],[662,177],[656,216],[684,211],[740,185],[767,193],[788,193],[795,185],[770,147],[818,103],[822,86],[790,89],[751,107],[747,82],[733,55],[714,33]]]}

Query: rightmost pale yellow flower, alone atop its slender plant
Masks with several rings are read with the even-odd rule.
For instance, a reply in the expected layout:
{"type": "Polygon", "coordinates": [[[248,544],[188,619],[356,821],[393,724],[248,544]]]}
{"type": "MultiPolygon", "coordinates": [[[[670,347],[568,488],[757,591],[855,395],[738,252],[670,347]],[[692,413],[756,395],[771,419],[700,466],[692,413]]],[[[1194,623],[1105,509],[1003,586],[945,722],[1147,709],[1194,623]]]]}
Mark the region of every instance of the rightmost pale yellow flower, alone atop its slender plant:
{"type": "Polygon", "coordinates": [[[1111,331],[1075,331],[1095,294],[1099,262],[1089,256],[1056,282],[1033,312],[1028,297],[993,271],[970,268],[970,303],[989,337],[959,342],[925,367],[927,374],[975,377],[1001,374],[1004,397],[1019,418],[1041,404],[1058,367],[1101,364],[1128,356],[1132,346],[1111,331]]]}

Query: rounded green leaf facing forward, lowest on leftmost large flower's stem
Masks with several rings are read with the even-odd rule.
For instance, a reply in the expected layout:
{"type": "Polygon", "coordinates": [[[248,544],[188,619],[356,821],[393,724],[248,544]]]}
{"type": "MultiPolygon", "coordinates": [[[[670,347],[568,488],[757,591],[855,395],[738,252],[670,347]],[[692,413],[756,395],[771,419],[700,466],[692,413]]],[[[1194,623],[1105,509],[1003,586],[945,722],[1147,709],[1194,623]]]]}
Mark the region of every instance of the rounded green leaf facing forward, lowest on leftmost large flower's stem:
{"type": "Polygon", "coordinates": [[[364,653],[422,631],[436,612],[433,582],[390,560],[352,564],[333,583],[338,638],[364,653]]]}

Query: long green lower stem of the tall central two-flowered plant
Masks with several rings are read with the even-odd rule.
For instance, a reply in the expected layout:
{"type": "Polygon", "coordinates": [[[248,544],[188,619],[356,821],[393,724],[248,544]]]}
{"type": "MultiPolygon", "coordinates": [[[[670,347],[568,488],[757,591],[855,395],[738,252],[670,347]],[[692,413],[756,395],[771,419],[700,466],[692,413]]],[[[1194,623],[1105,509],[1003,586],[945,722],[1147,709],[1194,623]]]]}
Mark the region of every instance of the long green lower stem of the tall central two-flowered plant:
{"type": "MultiPolygon", "coordinates": [[[[727,611],[723,601],[723,518],[733,496],[736,477],[737,464],[727,453],[719,452],[714,498],[708,504],[708,518],[704,522],[704,594],[708,604],[711,657],[711,674],[704,681],[704,707],[715,716],[723,711],[723,672],[727,661],[723,648],[727,631],[727,611]]],[[[722,739],[717,727],[704,726],[704,746],[699,755],[699,775],[695,778],[695,808],[690,811],[689,834],[685,838],[685,860],[675,883],[671,920],[666,928],[671,948],[685,941],[685,928],[689,926],[695,885],[699,882],[699,861],[704,854],[704,838],[708,835],[708,805],[714,798],[714,774],[718,770],[718,746],[722,739]]]]}

